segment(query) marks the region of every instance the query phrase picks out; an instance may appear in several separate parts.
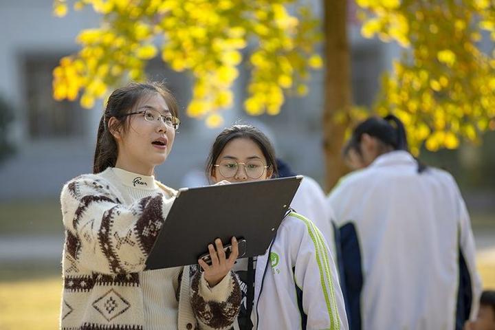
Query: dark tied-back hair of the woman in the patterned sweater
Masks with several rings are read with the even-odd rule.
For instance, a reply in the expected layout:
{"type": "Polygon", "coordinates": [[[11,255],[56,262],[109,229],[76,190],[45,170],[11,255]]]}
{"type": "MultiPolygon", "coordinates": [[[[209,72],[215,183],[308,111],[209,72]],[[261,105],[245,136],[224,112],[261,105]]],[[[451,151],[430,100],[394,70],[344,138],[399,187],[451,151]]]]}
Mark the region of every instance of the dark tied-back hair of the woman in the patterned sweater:
{"type": "Polygon", "coordinates": [[[93,163],[93,173],[100,173],[108,167],[115,166],[118,157],[118,144],[111,132],[122,131],[126,133],[129,129],[129,113],[143,97],[157,93],[161,95],[170,110],[170,113],[179,117],[179,111],[175,98],[163,83],[130,83],[129,85],[115,89],[110,95],[102,118],[98,126],[98,137],[93,163]],[[117,120],[109,127],[109,119],[115,117],[117,120]]]}

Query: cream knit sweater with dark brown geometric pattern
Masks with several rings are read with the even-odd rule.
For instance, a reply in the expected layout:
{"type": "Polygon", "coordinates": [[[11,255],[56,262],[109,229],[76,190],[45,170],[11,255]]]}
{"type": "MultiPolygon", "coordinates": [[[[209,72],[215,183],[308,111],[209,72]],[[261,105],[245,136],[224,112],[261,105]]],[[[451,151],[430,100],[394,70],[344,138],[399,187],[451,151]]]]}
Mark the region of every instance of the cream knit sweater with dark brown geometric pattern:
{"type": "Polygon", "coordinates": [[[210,288],[195,266],[143,272],[175,194],[118,168],[65,184],[61,329],[232,327],[241,303],[232,273],[210,288]]]}

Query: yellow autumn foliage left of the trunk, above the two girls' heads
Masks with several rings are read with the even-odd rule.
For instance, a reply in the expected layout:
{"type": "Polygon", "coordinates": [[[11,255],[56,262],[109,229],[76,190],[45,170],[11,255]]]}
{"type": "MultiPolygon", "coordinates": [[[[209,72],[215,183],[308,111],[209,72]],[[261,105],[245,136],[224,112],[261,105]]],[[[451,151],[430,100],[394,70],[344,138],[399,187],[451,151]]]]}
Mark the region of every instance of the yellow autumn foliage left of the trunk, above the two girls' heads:
{"type": "MultiPolygon", "coordinates": [[[[89,7],[102,15],[98,28],[77,37],[81,50],[61,60],[54,70],[54,98],[80,98],[84,107],[126,80],[144,80],[146,62],[158,52],[175,71],[189,70],[195,78],[187,113],[203,118],[208,126],[221,124],[222,109],[233,104],[232,84],[248,41],[258,49],[253,64],[245,109],[248,113],[276,114],[284,92],[309,79],[307,67],[322,67],[315,54],[320,41],[318,21],[309,7],[289,9],[292,0],[79,0],[74,9],[89,7]],[[157,48],[157,39],[166,42],[157,48]],[[65,61],[65,62],[63,62],[65,61]],[[76,65],[77,63],[77,65],[76,65]],[[280,63],[278,65],[277,63],[280,63]]],[[[67,13],[66,0],[54,0],[54,14],[67,13]]]]}

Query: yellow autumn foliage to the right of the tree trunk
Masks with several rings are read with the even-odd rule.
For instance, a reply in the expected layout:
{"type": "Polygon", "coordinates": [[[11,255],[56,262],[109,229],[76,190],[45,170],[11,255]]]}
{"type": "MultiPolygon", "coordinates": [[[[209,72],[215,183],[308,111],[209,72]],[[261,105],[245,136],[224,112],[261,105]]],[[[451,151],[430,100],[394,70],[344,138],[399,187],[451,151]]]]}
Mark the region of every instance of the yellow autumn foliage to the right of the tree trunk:
{"type": "Polygon", "coordinates": [[[363,36],[403,47],[371,111],[404,120],[411,151],[418,153],[423,144],[430,151],[457,148],[492,129],[495,52],[480,48],[483,36],[495,40],[489,0],[357,3],[363,36]]]}

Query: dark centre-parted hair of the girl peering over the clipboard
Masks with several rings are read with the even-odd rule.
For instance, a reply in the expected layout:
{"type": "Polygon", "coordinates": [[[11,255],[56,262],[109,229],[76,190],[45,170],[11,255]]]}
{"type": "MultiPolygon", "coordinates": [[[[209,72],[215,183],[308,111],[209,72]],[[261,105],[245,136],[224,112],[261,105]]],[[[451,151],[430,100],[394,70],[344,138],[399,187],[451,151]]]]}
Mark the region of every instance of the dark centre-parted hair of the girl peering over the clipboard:
{"type": "Polygon", "coordinates": [[[267,166],[273,170],[272,177],[276,177],[278,175],[278,168],[276,166],[275,151],[268,137],[254,126],[239,124],[224,129],[214,140],[208,158],[206,159],[206,176],[210,177],[213,175],[213,165],[217,162],[219,155],[228,142],[239,138],[252,140],[252,142],[259,146],[263,156],[265,156],[267,166]]]}

